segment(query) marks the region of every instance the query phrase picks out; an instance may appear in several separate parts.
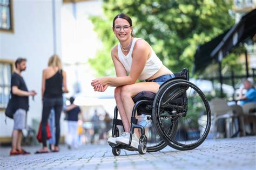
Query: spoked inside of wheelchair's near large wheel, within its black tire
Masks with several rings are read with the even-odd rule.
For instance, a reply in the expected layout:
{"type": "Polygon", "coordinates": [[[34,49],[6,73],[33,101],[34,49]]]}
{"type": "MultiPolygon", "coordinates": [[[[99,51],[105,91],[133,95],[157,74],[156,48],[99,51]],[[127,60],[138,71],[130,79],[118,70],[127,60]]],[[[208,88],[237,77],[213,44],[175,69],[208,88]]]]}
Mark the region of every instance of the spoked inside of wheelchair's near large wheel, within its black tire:
{"type": "Polygon", "coordinates": [[[158,104],[159,125],[165,137],[175,145],[193,146],[207,135],[210,128],[210,113],[206,109],[208,103],[202,96],[203,93],[189,83],[166,88],[161,95],[158,104]],[[169,127],[176,128],[171,133],[170,129],[166,128],[167,119],[173,122],[169,127]]]}

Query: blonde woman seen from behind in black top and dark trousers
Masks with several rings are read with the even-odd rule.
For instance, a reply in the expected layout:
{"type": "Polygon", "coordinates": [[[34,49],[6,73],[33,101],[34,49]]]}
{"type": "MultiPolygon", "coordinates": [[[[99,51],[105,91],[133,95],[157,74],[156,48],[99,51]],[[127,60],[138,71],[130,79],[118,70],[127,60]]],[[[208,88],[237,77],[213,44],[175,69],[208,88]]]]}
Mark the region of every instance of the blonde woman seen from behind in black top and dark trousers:
{"type": "Polygon", "coordinates": [[[63,107],[63,93],[68,93],[66,86],[66,72],[62,70],[62,62],[58,55],[52,55],[48,61],[48,67],[43,70],[42,79],[42,140],[43,148],[36,153],[48,153],[46,146],[46,124],[50,115],[51,109],[55,111],[55,148],[53,152],[59,151],[59,134],[60,125],[59,119],[63,107]]]}

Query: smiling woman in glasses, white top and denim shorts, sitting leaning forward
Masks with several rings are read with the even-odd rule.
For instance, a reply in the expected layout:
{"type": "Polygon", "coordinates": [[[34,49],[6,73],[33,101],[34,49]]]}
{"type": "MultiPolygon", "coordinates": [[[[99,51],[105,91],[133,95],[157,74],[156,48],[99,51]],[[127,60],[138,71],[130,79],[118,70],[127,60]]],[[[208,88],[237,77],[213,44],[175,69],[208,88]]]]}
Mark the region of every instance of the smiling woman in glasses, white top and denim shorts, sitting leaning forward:
{"type": "MultiPolygon", "coordinates": [[[[122,119],[124,132],[120,137],[109,138],[109,144],[129,144],[131,113],[134,106],[132,97],[141,91],[157,93],[161,84],[174,77],[163,65],[151,46],[143,39],[135,38],[132,20],[124,13],[113,19],[112,30],[119,43],[112,49],[111,55],[117,77],[100,77],[92,80],[95,91],[105,91],[108,86],[117,87],[114,98],[122,119]],[[144,82],[135,83],[139,80],[144,82]]],[[[139,132],[134,129],[131,146],[138,148],[139,132]]]]}

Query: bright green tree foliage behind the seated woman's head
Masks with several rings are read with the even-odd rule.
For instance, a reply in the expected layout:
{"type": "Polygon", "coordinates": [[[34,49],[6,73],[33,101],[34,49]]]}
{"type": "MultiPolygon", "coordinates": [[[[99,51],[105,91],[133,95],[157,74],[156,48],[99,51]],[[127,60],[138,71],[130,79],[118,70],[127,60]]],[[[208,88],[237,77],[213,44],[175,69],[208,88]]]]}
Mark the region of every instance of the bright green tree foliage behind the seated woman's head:
{"type": "Polygon", "coordinates": [[[104,1],[104,18],[91,18],[103,49],[89,62],[99,75],[114,73],[111,49],[117,40],[112,19],[123,12],[132,18],[136,37],[149,42],[165,66],[174,72],[183,67],[191,69],[197,46],[234,24],[228,13],[231,6],[232,1],[225,0],[104,1]]]}

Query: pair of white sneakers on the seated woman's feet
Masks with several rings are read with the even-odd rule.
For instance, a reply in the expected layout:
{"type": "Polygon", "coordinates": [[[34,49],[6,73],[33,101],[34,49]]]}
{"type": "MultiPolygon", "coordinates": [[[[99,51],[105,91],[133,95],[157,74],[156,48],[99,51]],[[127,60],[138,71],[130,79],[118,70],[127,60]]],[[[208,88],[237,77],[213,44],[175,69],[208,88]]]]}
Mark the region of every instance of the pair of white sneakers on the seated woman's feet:
{"type": "MultiPolygon", "coordinates": [[[[125,144],[125,145],[128,145],[128,144],[129,144],[129,141],[130,141],[130,133],[127,133],[127,132],[121,133],[120,137],[117,137],[117,139],[116,139],[116,143],[117,143],[117,144],[125,144]]],[[[133,148],[135,148],[136,150],[138,150],[139,139],[137,138],[137,136],[136,136],[135,133],[132,134],[131,146],[132,146],[133,148]]]]}

